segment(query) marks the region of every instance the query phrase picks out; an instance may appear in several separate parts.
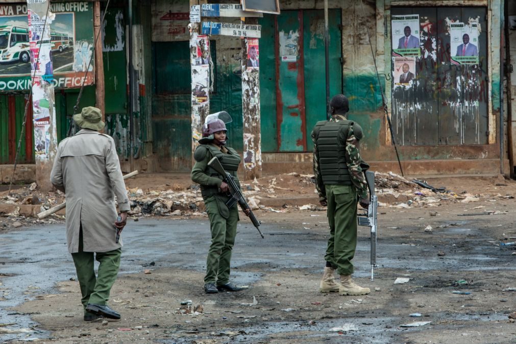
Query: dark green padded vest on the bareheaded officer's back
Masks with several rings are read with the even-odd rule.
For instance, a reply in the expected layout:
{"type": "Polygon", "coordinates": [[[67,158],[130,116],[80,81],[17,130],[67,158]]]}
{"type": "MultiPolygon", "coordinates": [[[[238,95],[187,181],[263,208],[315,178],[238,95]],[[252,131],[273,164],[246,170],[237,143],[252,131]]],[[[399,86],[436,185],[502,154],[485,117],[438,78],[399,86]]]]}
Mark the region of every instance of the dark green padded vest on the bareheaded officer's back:
{"type": "Polygon", "coordinates": [[[340,146],[337,136],[340,130],[347,133],[352,121],[317,122],[314,128],[317,150],[319,152],[319,168],[322,182],[330,185],[352,185],[346,164],[346,146],[340,146]]]}

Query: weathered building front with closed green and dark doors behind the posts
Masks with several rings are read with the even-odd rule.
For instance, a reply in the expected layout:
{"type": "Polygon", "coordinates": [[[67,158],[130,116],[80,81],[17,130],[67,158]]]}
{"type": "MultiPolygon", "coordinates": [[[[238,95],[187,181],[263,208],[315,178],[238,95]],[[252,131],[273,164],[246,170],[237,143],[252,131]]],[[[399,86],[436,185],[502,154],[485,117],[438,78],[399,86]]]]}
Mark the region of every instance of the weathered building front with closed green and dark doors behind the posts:
{"type": "MultiPolygon", "coordinates": [[[[128,1],[119,1],[110,5],[103,23],[107,130],[126,171],[131,161],[134,169],[188,171],[195,76],[187,25],[193,2],[132,3],[131,20],[128,1]]],[[[372,169],[399,173],[367,29],[405,174],[513,175],[511,111],[516,107],[507,103],[507,90],[514,91],[516,81],[507,74],[510,85],[504,84],[508,69],[503,68],[509,65],[505,38],[514,39],[515,31],[505,25],[508,14],[516,14],[513,7],[507,0],[364,0],[362,9],[360,0],[329,1],[330,93],[349,97],[349,118],[364,130],[361,150],[372,169]],[[473,45],[476,53],[470,52],[473,45]]],[[[260,78],[262,169],[309,173],[310,132],[326,118],[323,2],[280,1],[280,8],[279,15],[257,18],[261,37],[254,68],[260,78]]],[[[239,18],[201,21],[240,23],[239,18]]],[[[240,37],[208,39],[209,111],[231,114],[231,145],[242,152],[241,59],[247,55],[240,37]]],[[[56,91],[60,138],[66,135],[66,116],[73,112],[77,92],[56,91]]],[[[79,108],[94,103],[92,85],[79,108]]],[[[24,95],[4,91],[0,109],[0,162],[12,163],[24,95]]],[[[24,142],[21,161],[30,163],[34,139],[27,136],[24,142]]]]}

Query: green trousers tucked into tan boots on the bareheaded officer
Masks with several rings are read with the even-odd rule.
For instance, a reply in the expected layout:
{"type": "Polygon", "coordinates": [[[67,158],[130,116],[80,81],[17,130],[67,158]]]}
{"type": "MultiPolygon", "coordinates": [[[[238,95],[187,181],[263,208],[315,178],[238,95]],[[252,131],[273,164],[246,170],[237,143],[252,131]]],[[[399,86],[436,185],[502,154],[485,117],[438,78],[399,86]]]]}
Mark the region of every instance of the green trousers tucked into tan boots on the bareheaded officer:
{"type": "Polygon", "coordinates": [[[325,185],[328,200],[330,238],[325,260],[337,273],[353,273],[353,259],[357,248],[357,192],[352,185],[325,185]]]}

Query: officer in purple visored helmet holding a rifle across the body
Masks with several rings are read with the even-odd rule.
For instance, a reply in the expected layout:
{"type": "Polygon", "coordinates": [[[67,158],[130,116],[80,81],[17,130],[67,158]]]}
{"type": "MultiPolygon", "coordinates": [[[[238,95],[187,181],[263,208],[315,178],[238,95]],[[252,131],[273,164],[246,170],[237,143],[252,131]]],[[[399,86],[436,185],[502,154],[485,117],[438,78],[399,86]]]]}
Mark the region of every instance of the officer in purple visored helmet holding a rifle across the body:
{"type": "MultiPolygon", "coordinates": [[[[229,122],[231,117],[225,111],[207,116],[203,127],[203,138],[199,140],[200,145],[193,154],[196,163],[193,166],[191,178],[193,182],[201,185],[201,194],[212,232],[212,244],[206,259],[204,277],[206,293],[242,290],[229,282],[231,253],[239,220],[238,208],[236,204],[231,208],[225,205],[230,198],[229,186],[222,180],[220,174],[208,167],[209,160],[217,157],[224,170],[233,175],[235,182],[240,186],[236,174],[240,156],[234,149],[225,145],[227,140],[225,123],[229,122]]],[[[246,215],[249,215],[249,209],[246,215]]]]}

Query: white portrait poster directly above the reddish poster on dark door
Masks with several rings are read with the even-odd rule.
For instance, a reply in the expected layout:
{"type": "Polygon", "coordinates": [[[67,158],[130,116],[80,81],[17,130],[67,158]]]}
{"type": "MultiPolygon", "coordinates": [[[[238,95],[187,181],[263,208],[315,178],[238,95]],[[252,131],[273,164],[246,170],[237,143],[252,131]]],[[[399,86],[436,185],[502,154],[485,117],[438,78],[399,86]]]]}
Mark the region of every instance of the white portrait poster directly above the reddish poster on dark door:
{"type": "Polygon", "coordinates": [[[393,56],[421,56],[419,14],[393,15],[393,56]]]}

